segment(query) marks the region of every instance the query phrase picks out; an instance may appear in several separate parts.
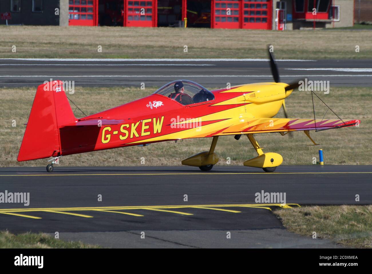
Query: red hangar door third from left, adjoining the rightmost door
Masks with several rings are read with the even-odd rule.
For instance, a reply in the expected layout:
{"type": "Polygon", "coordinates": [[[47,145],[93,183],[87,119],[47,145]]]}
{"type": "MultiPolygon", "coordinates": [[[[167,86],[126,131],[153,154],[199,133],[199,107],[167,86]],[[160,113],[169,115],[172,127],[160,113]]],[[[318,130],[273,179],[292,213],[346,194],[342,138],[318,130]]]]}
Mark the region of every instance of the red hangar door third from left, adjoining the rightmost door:
{"type": "Polygon", "coordinates": [[[212,0],[211,28],[240,28],[240,0],[212,0]]]}

